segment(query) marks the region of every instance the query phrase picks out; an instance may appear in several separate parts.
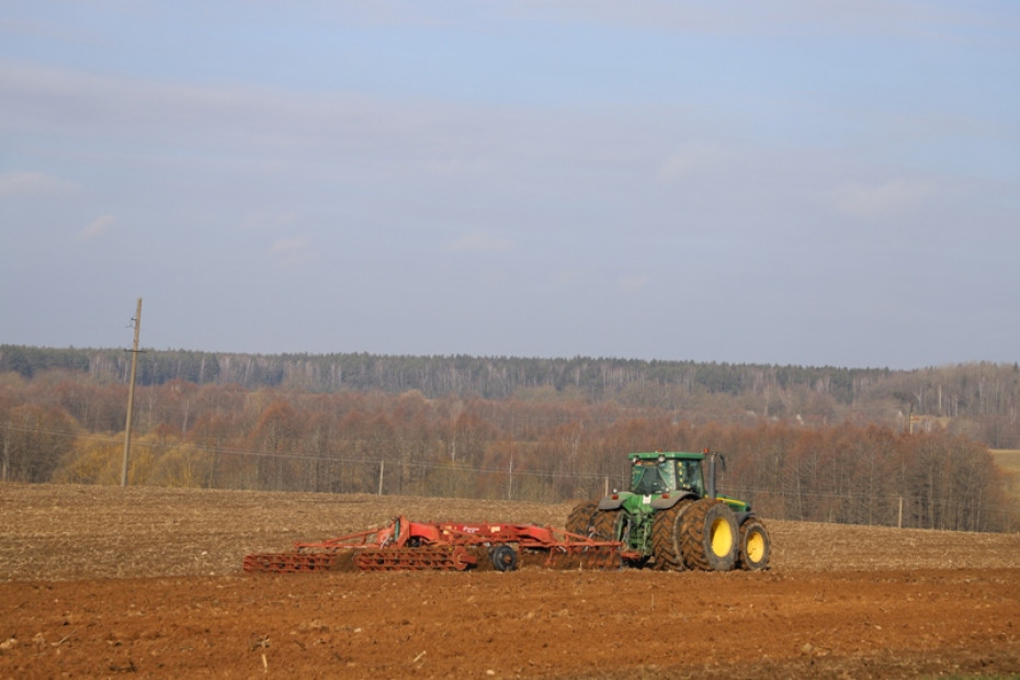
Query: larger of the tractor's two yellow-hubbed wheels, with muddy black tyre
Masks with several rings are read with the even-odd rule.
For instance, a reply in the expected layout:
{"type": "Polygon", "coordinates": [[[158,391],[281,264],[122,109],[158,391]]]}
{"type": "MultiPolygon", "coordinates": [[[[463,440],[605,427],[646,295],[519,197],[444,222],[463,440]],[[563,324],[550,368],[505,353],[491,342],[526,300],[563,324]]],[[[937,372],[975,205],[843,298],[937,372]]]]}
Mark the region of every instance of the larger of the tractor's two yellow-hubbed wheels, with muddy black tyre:
{"type": "Polygon", "coordinates": [[[689,569],[729,571],[736,566],[740,532],[726,503],[704,498],[683,513],[680,546],[689,569]]]}

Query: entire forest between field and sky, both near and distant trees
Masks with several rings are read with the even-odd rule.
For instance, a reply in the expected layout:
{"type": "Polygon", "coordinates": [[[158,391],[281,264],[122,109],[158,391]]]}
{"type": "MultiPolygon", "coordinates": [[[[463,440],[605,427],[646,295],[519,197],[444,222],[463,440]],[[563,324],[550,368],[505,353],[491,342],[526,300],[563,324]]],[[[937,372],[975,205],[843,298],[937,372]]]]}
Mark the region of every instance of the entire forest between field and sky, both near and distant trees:
{"type": "MultiPolygon", "coordinates": [[[[0,479],[118,484],[131,354],[0,345],[0,479]]],[[[131,484],[560,501],[631,451],[712,449],[777,519],[1008,531],[988,447],[1017,365],[896,372],[612,359],[146,351],[131,484]]]]}

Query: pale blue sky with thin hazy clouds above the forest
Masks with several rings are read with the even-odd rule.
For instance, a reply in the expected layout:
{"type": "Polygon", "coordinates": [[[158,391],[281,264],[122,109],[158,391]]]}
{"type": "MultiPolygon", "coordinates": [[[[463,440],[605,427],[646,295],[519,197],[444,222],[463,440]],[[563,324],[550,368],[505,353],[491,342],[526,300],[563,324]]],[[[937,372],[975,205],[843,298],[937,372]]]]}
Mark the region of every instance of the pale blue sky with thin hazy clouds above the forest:
{"type": "Polygon", "coordinates": [[[1020,2],[4,0],[0,344],[1020,360],[1020,2]]]}

